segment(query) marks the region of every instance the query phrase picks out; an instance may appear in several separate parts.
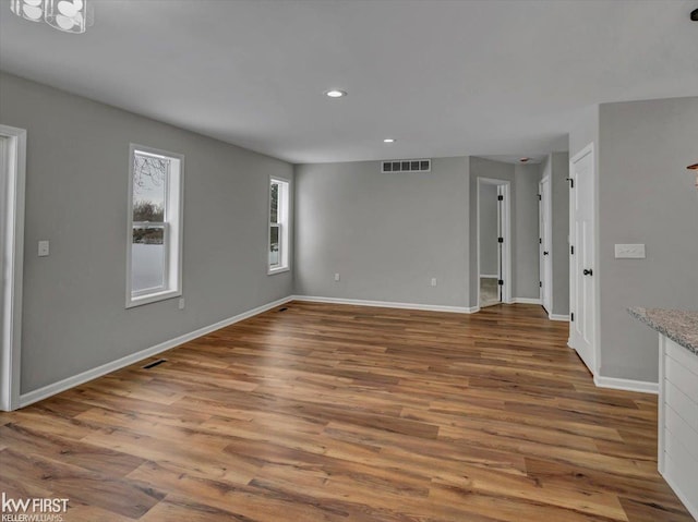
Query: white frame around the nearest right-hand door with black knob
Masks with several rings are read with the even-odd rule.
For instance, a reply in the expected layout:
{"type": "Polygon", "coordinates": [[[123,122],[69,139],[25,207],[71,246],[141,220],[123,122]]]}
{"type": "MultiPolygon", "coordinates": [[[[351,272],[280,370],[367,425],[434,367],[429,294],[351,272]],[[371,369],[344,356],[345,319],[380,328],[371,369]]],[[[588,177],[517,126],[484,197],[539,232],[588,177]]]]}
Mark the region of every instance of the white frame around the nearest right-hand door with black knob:
{"type": "MultiPolygon", "coordinates": [[[[569,179],[571,180],[571,183],[574,183],[574,189],[569,190],[569,240],[571,241],[573,238],[575,236],[575,221],[574,221],[574,215],[575,215],[575,204],[574,204],[574,197],[575,197],[575,193],[574,191],[577,189],[578,183],[577,183],[577,175],[575,172],[575,163],[577,163],[581,158],[583,158],[587,155],[591,155],[591,168],[593,169],[592,173],[591,173],[591,180],[593,183],[592,186],[592,201],[591,201],[591,205],[593,206],[592,208],[592,215],[593,215],[593,229],[592,229],[592,233],[593,233],[593,239],[592,239],[592,244],[593,244],[593,270],[594,270],[594,275],[593,275],[593,279],[592,279],[592,284],[593,284],[593,300],[592,300],[592,305],[593,305],[593,312],[591,314],[591,320],[593,321],[593,347],[592,347],[592,351],[591,351],[591,356],[592,356],[592,363],[591,363],[591,367],[589,368],[591,374],[593,375],[594,379],[597,378],[597,376],[599,375],[599,367],[600,367],[600,362],[601,362],[601,344],[600,344],[600,340],[601,340],[601,332],[599,331],[599,326],[601,324],[601,307],[599,306],[600,304],[600,291],[601,291],[601,278],[599,278],[599,267],[600,267],[600,263],[599,263],[599,258],[600,258],[600,252],[599,252],[599,166],[598,166],[598,158],[597,158],[597,154],[595,154],[595,147],[593,142],[591,142],[589,145],[587,145],[586,147],[583,147],[581,150],[579,150],[577,154],[575,154],[571,158],[569,158],[569,179]]],[[[575,255],[577,255],[577,252],[575,252],[575,255]]],[[[577,290],[577,286],[575,284],[575,277],[577,278],[581,278],[582,276],[579,274],[576,274],[575,270],[575,257],[574,256],[569,256],[569,312],[570,314],[573,314],[575,311],[575,299],[576,299],[576,290],[577,290]]],[[[571,316],[570,316],[571,319],[571,316]]],[[[573,350],[576,351],[576,347],[574,345],[574,341],[573,341],[573,329],[574,329],[574,325],[570,320],[569,324],[569,339],[567,340],[567,345],[569,348],[571,348],[573,350]]]]}

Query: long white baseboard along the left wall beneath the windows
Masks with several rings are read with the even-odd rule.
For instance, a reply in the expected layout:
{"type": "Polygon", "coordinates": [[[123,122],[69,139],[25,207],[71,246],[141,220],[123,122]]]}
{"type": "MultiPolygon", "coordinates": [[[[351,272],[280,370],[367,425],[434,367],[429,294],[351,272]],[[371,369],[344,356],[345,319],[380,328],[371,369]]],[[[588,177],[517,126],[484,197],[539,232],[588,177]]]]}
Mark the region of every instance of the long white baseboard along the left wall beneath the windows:
{"type": "Polygon", "coordinates": [[[230,326],[241,320],[249,319],[250,317],[288,303],[289,301],[291,301],[291,298],[284,298],[279,299],[278,301],[274,301],[273,303],[263,304],[262,306],[257,306],[256,308],[252,308],[233,317],[219,320],[218,323],[215,323],[213,325],[198,328],[197,330],[176,337],[174,339],[161,342],[159,344],[156,344],[155,347],[146,348],[145,350],[141,350],[140,352],[132,353],[107,364],[103,364],[101,366],[97,366],[96,368],[92,368],[72,377],[68,377],[65,379],[59,380],[58,383],[53,383],[51,385],[44,386],[43,388],[22,393],[20,396],[20,408],[28,406],[29,404],[47,399],[70,388],[74,388],[75,386],[87,383],[88,380],[96,379],[97,377],[101,377],[103,375],[116,372],[117,369],[121,369],[125,366],[137,363],[139,361],[143,361],[144,359],[152,357],[153,355],[157,355],[158,353],[170,350],[174,347],[183,344],[184,342],[192,341],[197,337],[205,336],[206,333],[219,330],[221,328],[225,328],[226,326],[230,326]]]}

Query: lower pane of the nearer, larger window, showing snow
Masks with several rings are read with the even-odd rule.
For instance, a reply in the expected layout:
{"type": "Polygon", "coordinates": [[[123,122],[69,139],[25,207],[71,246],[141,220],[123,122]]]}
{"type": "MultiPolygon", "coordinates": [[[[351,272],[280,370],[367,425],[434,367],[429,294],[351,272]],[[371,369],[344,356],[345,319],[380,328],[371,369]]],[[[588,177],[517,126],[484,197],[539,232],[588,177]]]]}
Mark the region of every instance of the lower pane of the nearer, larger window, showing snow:
{"type": "Polygon", "coordinates": [[[131,291],[165,288],[165,226],[133,227],[131,291]]]}

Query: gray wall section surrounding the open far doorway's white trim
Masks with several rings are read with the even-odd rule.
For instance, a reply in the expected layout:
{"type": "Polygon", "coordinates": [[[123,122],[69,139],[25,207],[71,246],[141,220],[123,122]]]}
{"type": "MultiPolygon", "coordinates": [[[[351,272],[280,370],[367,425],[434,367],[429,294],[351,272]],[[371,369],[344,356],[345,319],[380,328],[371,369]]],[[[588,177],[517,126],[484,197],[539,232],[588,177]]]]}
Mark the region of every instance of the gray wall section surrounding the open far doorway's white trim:
{"type": "MultiPolygon", "coordinates": [[[[478,178],[489,178],[494,180],[509,181],[512,186],[512,216],[516,216],[516,184],[514,182],[514,166],[502,161],[493,161],[491,159],[478,158],[470,156],[470,295],[469,306],[478,305],[478,178]]],[[[512,219],[514,221],[514,218],[512,219]]],[[[514,224],[514,223],[513,223],[514,224]]],[[[513,286],[512,292],[516,290],[516,227],[512,231],[512,271],[513,286]]],[[[516,295],[513,295],[514,298],[516,295]]]]}

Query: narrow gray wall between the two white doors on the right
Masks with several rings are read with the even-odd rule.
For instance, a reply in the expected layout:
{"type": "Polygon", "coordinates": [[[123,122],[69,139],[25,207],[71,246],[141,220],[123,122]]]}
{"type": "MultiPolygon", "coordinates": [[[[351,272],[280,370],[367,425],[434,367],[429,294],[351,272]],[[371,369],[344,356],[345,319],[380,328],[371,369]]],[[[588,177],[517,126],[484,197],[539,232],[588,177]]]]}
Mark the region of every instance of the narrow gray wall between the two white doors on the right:
{"type": "MultiPolygon", "coordinates": [[[[583,145],[580,146],[583,148],[583,145]]],[[[553,153],[541,163],[541,180],[551,180],[552,311],[569,315],[569,155],[553,153]]]]}

